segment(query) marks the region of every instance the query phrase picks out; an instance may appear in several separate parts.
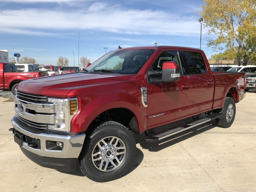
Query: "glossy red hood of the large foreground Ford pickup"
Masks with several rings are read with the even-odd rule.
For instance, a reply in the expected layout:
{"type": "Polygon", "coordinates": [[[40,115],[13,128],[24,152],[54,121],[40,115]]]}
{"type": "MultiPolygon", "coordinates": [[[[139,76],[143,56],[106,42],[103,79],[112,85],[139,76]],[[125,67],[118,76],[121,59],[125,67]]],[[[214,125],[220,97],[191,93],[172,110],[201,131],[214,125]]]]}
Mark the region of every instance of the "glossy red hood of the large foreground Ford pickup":
{"type": "Polygon", "coordinates": [[[73,89],[123,82],[130,75],[109,73],[71,73],[25,80],[17,89],[31,94],[65,97],[73,89]]]}

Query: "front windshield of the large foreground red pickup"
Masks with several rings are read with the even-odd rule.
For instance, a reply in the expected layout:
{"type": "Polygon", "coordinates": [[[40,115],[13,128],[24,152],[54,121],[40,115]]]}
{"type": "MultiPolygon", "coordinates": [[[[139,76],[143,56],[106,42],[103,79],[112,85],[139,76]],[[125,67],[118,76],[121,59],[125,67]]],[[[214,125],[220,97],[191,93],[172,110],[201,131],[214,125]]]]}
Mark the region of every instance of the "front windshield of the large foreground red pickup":
{"type": "Polygon", "coordinates": [[[112,51],[96,60],[86,68],[89,72],[115,72],[137,74],[155,50],[118,50],[112,51]]]}

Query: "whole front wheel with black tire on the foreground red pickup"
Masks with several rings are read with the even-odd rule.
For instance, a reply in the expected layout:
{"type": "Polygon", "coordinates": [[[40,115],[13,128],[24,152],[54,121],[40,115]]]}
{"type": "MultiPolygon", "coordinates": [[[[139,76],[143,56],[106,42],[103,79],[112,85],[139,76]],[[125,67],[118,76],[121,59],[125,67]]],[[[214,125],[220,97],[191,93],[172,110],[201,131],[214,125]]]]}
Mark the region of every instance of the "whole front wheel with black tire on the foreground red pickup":
{"type": "Polygon", "coordinates": [[[86,136],[80,169],[96,182],[106,182],[124,176],[136,156],[136,142],[132,133],[114,121],[97,126],[86,136]]]}

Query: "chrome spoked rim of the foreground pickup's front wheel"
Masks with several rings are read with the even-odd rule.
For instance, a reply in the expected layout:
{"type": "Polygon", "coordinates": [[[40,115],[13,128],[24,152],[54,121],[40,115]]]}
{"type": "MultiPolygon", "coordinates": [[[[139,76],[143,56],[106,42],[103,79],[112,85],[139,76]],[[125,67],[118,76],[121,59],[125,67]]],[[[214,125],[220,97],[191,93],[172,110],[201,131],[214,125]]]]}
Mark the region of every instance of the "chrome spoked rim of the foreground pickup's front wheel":
{"type": "Polygon", "coordinates": [[[92,150],[92,162],[101,171],[112,171],[124,162],[126,147],[117,137],[106,137],[100,140],[92,150]]]}

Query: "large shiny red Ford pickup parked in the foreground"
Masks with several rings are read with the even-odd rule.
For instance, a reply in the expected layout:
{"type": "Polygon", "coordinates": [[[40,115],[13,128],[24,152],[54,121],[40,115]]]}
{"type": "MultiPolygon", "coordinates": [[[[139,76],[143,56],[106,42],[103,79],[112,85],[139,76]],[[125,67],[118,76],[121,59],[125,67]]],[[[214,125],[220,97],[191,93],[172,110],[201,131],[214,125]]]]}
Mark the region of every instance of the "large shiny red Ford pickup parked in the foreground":
{"type": "Polygon", "coordinates": [[[70,171],[78,163],[88,178],[105,182],[132,166],[133,134],[156,142],[214,119],[231,126],[244,88],[243,72],[211,72],[200,49],[122,48],[86,71],[21,82],[10,131],[37,164],[70,171]],[[154,132],[190,117],[194,121],[154,132]]]}

